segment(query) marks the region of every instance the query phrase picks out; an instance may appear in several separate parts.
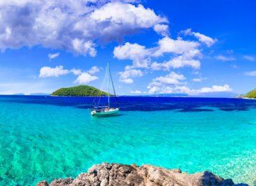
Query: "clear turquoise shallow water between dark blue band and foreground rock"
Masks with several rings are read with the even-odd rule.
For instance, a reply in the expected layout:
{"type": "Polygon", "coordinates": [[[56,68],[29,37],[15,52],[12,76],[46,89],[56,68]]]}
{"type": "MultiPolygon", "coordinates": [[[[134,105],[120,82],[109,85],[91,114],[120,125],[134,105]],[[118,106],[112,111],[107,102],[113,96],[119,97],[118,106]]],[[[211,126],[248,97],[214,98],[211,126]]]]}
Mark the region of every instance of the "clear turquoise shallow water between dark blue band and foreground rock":
{"type": "Polygon", "coordinates": [[[129,110],[95,118],[74,105],[24,100],[0,98],[0,185],[76,177],[101,162],[207,169],[236,183],[256,178],[253,107],[226,111],[206,101],[200,112],[129,110]]]}

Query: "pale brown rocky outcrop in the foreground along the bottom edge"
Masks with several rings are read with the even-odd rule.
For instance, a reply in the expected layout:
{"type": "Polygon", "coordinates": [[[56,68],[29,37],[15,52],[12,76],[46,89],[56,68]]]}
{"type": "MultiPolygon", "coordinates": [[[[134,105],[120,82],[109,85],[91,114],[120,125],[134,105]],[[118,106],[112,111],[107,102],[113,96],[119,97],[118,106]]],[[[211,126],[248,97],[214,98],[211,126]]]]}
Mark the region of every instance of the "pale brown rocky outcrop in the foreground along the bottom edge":
{"type": "MultiPolygon", "coordinates": [[[[138,186],[232,186],[231,179],[223,179],[204,171],[197,174],[182,173],[180,169],[163,169],[152,165],[141,167],[125,164],[102,163],[91,167],[88,173],[82,173],[77,178],[65,178],[38,183],[38,186],[89,186],[89,185],[138,185],[138,186]]],[[[246,185],[246,184],[238,184],[246,185]]]]}

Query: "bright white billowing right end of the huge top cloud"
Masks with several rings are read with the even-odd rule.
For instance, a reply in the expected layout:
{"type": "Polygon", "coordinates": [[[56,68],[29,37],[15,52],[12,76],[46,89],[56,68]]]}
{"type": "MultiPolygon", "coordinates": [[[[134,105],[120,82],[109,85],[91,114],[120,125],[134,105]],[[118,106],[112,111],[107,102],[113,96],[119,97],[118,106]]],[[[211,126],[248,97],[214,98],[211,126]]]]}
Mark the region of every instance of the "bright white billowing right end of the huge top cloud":
{"type": "MultiPolygon", "coordinates": [[[[161,22],[168,22],[166,18],[157,16],[150,8],[144,8],[141,4],[138,6],[129,3],[107,3],[101,8],[95,10],[90,18],[96,22],[111,24],[105,27],[103,33],[109,34],[114,27],[120,32],[124,32],[121,24],[129,29],[150,28],[161,22]]],[[[103,34],[102,33],[102,34],[103,34]]],[[[116,33],[111,32],[111,35],[116,33]]],[[[115,36],[116,37],[116,36],[115,36]]]]}

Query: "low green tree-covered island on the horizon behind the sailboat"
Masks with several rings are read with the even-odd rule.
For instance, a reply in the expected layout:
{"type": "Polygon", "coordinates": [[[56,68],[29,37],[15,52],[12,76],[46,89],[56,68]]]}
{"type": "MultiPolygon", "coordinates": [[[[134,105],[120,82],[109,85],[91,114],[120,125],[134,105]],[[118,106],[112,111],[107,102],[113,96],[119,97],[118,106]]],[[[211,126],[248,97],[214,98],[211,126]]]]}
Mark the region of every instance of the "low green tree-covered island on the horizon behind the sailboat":
{"type": "Polygon", "coordinates": [[[51,93],[52,96],[107,96],[108,93],[88,85],[66,87],[51,93]]]}

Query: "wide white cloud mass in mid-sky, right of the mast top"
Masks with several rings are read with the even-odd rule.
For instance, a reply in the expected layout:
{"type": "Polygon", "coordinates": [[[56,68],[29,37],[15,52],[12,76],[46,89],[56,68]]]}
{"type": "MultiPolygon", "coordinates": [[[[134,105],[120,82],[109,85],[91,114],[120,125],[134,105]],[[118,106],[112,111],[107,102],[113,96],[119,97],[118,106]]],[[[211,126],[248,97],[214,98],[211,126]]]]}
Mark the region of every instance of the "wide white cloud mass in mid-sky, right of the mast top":
{"type": "Polygon", "coordinates": [[[119,60],[132,60],[131,68],[152,68],[154,70],[192,67],[200,68],[200,58],[202,55],[198,47],[198,42],[184,41],[180,38],[173,40],[166,36],[159,40],[157,47],[146,49],[145,46],[129,42],[122,46],[115,47],[113,53],[119,60]],[[176,57],[171,58],[168,62],[152,62],[152,58],[162,56],[163,53],[173,53],[176,57]],[[179,55],[179,56],[177,56],[179,55]]]}

